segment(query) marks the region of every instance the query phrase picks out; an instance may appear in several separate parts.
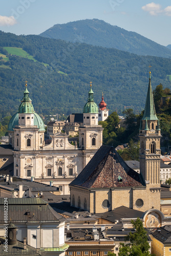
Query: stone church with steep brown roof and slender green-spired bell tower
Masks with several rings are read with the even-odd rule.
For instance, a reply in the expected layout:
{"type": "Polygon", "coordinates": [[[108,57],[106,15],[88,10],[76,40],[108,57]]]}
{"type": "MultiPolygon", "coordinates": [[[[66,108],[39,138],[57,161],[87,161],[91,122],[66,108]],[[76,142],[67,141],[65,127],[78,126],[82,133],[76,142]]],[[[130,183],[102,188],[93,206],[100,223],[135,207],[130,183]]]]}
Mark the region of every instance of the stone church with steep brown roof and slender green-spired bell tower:
{"type": "Polygon", "coordinates": [[[160,138],[150,72],[139,129],[140,174],[122,160],[113,146],[102,145],[71,182],[71,206],[98,214],[124,205],[142,212],[155,209],[156,216],[161,215],[160,138]]]}

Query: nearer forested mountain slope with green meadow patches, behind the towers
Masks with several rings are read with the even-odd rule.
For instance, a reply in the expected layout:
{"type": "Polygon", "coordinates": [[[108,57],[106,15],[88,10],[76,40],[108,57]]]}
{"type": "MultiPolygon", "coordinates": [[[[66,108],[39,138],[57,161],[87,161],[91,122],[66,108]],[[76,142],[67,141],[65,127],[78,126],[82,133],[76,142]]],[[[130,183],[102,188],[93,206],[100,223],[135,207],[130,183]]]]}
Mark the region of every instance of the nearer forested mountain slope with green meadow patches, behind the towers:
{"type": "Polygon", "coordinates": [[[81,113],[90,81],[97,104],[103,92],[111,112],[122,113],[124,106],[139,112],[145,104],[149,64],[153,89],[160,83],[164,88],[170,88],[171,84],[167,76],[171,74],[168,58],[4,32],[0,33],[0,45],[0,112],[3,115],[17,111],[26,79],[34,109],[39,114],[81,113]],[[24,57],[8,54],[5,47],[22,48],[24,57]],[[27,58],[27,53],[32,59],[27,58]]]}

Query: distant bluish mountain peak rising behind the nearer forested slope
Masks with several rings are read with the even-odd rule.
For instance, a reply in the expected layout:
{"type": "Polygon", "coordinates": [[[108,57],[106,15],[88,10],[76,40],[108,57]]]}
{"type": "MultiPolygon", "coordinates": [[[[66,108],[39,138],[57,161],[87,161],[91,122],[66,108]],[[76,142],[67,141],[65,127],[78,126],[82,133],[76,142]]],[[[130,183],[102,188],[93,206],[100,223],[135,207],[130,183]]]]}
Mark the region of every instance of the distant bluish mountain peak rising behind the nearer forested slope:
{"type": "Polygon", "coordinates": [[[71,42],[85,42],[94,46],[116,48],[138,55],[171,58],[171,49],[135,32],[127,31],[99,19],[84,19],[57,24],[40,36],[71,42]]]}

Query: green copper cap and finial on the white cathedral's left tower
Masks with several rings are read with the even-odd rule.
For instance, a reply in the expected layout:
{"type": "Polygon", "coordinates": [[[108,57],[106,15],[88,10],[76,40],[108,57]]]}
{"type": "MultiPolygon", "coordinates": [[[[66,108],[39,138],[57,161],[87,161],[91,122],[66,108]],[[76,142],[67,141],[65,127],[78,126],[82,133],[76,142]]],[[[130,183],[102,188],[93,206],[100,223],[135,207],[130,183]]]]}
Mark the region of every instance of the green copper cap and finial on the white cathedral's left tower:
{"type": "Polygon", "coordinates": [[[18,113],[33,113],[34,108],[31,103],[31,99],[29,98],[29,91],[27,90],[27,81],[26,81],[25,87],[26,89],[24,91],[24,97],[21,100],[22,102],[19,105],[18,113]]]}

